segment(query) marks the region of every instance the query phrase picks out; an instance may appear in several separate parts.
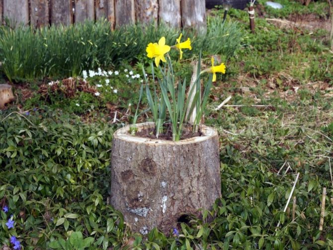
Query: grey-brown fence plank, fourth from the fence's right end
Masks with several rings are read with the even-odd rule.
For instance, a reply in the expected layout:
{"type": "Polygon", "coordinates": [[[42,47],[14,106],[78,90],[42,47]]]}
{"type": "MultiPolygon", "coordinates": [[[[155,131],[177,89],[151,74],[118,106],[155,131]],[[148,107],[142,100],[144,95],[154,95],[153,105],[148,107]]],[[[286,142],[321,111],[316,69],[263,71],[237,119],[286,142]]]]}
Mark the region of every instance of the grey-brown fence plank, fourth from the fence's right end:
{"type": "Polygon", "coordinates": [[[115,0],[116,26],[135,23],[134,0],[115,0]]]}

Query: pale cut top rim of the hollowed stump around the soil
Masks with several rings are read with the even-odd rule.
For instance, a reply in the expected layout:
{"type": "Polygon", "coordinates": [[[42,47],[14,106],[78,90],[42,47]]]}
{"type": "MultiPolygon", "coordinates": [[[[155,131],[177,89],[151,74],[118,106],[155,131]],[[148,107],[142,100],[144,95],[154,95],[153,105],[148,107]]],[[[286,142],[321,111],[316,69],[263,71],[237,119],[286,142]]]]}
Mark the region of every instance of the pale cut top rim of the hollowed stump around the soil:
{"type": "MultiPolygon", "coordinates": [[[[192,137],[192,138],[188,138],[185,140],[174,142],[174,141],[168,141],[168,140],[159,140],[159,139],[150,139],[150,138],[132,136],[128,133],[131,126],[133,126],[133,125],[127,125],[121,129],[118,129],[116,132],[114,132],[114,135],[113,135],[114,138],[124,140],[124,141],[129,141],[129,142],[172,146],[172,145],[182,145],[182,144],[202,142],[211,137],[218,136],[216,129],[202,125],[202,126],[200,126],[202,136],[192,137]]],[[[145,128],[154,127],[154,122],[138,123],[138,124],[135,124],[135,127],[137,127],[139,131],[141,131],[142,129],[145,129],[145,128]]]]}

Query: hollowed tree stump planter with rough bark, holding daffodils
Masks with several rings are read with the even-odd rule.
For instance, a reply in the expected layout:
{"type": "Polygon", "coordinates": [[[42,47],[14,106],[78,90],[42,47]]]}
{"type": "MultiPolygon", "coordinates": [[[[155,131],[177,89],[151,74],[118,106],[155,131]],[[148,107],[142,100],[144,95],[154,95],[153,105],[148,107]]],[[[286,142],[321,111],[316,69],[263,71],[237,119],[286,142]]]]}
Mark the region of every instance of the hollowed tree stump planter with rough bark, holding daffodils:
{"type": "MultiPolygon", "coordinates": [[[[137,124],[139,130],[152,123],[137,124]]],[[[134,232],[157,227],[168,234],[184,215],[201,216],[221,197],[219,137],[202,126],[200,137],[179,142],[114,133],[111,204],[134,232]]]]}

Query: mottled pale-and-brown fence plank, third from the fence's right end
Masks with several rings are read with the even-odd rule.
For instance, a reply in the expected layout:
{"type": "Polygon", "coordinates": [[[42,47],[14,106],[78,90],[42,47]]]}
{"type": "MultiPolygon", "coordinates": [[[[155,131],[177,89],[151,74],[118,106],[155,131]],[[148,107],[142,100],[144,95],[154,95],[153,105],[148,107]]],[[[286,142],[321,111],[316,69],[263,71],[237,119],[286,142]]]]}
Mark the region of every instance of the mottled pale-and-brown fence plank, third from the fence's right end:
{"type": "Polygon", "coordinates": [[[140,0],[135,4],[136,21],[141,23],[150,23],[154,21],[157,24],[159,14],[158,0],[140,0]]]}

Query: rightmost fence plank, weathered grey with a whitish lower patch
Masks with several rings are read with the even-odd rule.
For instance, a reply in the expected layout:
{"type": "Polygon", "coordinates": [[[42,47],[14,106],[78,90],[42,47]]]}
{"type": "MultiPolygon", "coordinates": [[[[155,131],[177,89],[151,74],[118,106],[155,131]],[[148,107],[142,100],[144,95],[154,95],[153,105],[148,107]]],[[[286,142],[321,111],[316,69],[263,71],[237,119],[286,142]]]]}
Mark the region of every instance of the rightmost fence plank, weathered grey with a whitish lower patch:
{"type": "Polygon", "coordinates": [[[181,23],[183,28],[206,30],[206,6],[202,0],[181,0],[181,23]]]}

